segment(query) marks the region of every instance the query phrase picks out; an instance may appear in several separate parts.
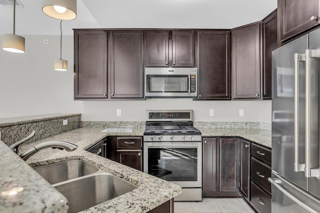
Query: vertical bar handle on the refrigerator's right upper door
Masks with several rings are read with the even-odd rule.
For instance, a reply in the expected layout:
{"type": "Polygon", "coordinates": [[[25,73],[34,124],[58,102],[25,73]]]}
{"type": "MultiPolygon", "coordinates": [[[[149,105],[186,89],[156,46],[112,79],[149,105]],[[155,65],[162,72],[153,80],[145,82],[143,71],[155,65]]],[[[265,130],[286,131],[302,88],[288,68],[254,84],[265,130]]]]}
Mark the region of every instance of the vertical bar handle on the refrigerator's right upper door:
{"type": "Polygon", "coordinates": [[[305,50],[305,168],[306,178],[319,177],[319,169],[310,168],[310,104],[311,104],[311,57],[320,57],[320,50],[305,50]]]}

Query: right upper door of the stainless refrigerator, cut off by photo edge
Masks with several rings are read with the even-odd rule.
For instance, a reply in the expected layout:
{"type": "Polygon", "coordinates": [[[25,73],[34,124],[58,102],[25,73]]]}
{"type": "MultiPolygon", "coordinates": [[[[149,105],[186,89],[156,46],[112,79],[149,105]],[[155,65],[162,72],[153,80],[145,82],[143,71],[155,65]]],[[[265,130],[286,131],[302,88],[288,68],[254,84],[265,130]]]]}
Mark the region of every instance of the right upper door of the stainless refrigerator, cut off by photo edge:
{"type": "Polygon", "coordinates": [[[308,180],[308,191],[313,195],[320,198],[320,177],[319,177],[319,51],[320,51],[320,30],[315,30],[309,33],[309,49],[311,49],[313,54],[311,54],[310,60],[310,152],[309,161],[311,170],[317,170],[315,173],[316,177],[311,177],[308,180]],[[318,55],[317,55],[318,54],[318,55]]]}

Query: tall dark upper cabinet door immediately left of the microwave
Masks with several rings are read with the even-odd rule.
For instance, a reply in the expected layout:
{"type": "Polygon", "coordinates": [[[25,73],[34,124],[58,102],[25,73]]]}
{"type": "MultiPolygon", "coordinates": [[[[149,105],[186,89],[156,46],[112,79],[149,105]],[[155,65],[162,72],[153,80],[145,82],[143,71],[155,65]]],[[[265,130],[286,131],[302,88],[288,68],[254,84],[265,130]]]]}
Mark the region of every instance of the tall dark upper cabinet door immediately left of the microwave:
{"type": "Polygon", "coordinates": [[[110,40],[111,98],[142,98],[143,31],[114,30],[110,40]]]}

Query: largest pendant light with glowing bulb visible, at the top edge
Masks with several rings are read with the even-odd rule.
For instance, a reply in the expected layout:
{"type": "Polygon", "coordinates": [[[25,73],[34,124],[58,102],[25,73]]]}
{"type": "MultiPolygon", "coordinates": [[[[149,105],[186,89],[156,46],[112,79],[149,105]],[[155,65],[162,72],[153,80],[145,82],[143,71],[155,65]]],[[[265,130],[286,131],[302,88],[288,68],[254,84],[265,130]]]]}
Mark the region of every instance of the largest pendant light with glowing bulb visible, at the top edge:
{"type": "Polygon", "coordinates": [[[42,0],[42,11],[52,18],[72,20],[76,17],[76,0],[42,0]]]}

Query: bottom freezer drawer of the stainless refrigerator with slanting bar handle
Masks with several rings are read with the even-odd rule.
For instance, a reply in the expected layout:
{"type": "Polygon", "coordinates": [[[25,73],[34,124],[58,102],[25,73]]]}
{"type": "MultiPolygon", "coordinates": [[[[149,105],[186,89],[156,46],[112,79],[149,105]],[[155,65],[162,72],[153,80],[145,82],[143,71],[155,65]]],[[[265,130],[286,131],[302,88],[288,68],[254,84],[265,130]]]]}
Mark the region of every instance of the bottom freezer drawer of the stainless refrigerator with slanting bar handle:
{"type": "Polygon", "coordinates": [[[318,213],[320,200],[272,172],[272,213],[318,213]]]}

